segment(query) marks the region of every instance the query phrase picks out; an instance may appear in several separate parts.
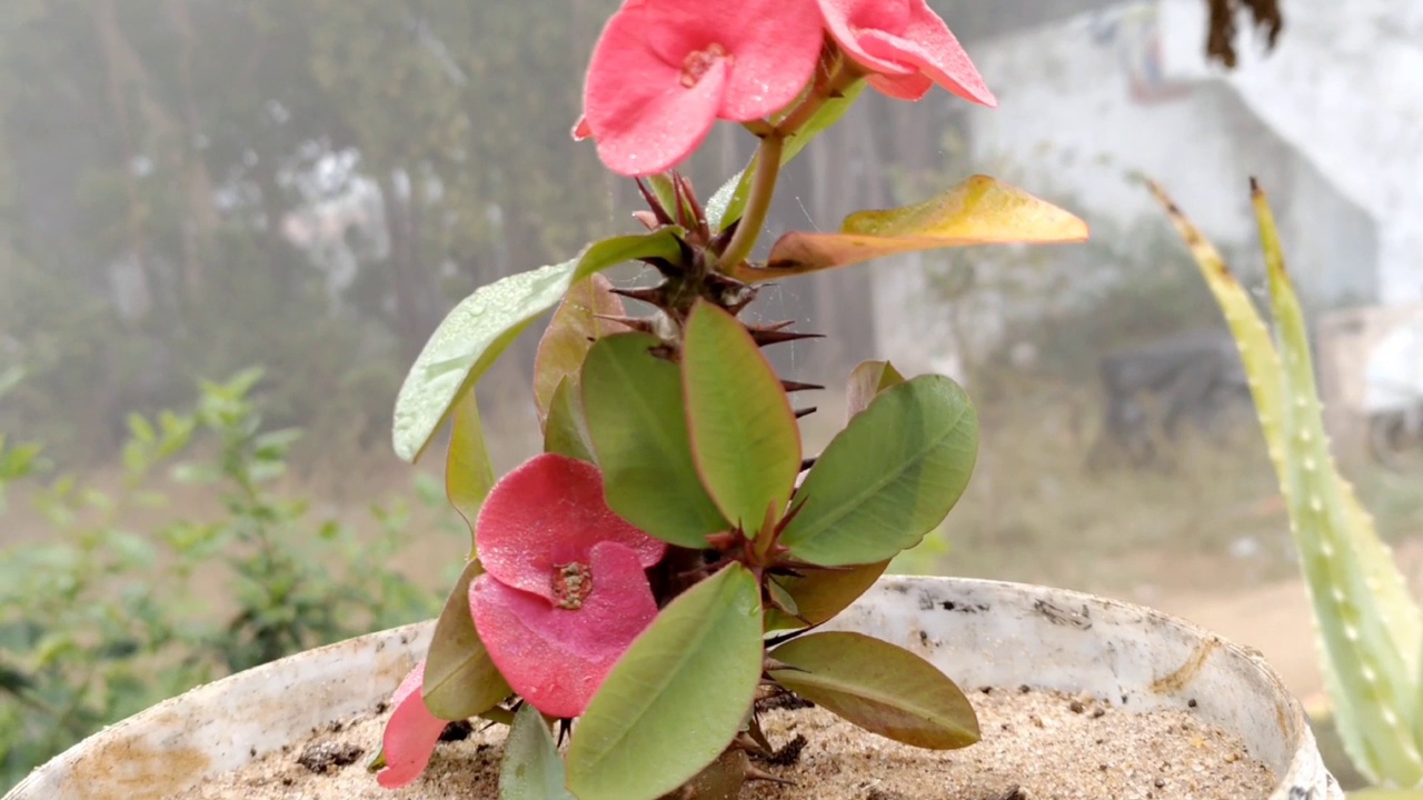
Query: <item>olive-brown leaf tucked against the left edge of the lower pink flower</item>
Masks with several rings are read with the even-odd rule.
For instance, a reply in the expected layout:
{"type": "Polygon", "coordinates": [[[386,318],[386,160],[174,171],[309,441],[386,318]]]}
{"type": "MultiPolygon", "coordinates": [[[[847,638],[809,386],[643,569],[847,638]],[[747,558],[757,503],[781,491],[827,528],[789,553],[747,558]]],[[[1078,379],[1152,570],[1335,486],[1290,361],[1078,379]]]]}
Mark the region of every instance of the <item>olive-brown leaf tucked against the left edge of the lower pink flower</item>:
{"type": "Polygon", "coordinates": [[[478,561],[464,567],[430,639],[421,696],[430,713],[440,719],[470,719],[512,693],[490,660],[470,616],[470,582],[482,572],[478,561]]]}

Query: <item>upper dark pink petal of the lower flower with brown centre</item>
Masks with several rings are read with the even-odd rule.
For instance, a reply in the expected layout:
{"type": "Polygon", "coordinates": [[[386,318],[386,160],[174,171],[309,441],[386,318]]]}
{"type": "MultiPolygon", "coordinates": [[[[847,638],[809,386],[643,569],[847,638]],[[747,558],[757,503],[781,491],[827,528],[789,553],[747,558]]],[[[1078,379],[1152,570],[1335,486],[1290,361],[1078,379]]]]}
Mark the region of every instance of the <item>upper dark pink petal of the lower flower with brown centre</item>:
{"type": "Polygon", "coordinates": [[[642,568],[660,561],[667,548],[608,508],[598,467],[554,453],[504,475],[475,525],[484,569],[548,601],[555,599],[558,567],[588,564],[593,545],[605,541],[629,548],[642,568]]]}

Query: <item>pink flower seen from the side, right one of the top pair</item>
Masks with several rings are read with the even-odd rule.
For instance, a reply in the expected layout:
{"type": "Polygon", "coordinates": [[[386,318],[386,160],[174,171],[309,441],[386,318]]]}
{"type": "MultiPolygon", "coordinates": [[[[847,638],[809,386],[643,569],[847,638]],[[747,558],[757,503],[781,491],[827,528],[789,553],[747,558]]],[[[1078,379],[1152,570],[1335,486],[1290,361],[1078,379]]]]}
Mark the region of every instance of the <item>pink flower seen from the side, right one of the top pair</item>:
{"type": "Polygon", "coordinates": [[[919,100],[939,84],[970,102],[998,105],[959,40],[925,0],[818,1],[830,34],[884,94],[919,100]]]}

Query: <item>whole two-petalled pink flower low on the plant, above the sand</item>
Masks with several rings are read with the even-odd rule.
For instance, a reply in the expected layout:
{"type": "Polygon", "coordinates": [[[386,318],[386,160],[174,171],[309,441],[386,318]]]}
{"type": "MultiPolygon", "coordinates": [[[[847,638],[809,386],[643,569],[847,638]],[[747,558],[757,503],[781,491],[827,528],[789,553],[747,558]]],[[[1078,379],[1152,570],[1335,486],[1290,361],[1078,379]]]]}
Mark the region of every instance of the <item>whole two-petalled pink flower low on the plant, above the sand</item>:
{"type": "Polygon", "coordinates": [[[490,658],[538,710],[583,713],[657,615],[645,569],[666,544],[608,508],[596,467],[552,453],[494,487],[475,531],[470,611],[490,658]]]}

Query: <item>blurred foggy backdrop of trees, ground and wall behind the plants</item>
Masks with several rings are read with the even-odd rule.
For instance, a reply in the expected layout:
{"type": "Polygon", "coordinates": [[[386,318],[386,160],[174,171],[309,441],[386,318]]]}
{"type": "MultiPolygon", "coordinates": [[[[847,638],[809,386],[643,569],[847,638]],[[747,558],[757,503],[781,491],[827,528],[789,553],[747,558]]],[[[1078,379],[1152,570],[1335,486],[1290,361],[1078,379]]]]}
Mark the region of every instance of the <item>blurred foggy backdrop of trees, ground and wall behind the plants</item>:
{"type": "MultiPolygon", "coordinates": [[[[1286,0],[1279,47],[1264,54],[1242,21],[1241,63],[1225,71],[1204,57],[1201,0],[931,4],[1000,107],[867,91],[788,168],[763,242],[832,229],[852,211],[915,202],[976,172],[1083,216],[1093,241],[885,259],[764,290],[751,317],[827,335],[773,349],[783,374],[827,386],[807,397],[821,409],[805,423],[808,448],[842,424],[840,387],[859,360],[952,374],[979,407],[978,471],[942,531],[896,569],[1155,605],[1259,646],[1296,693],[1318,693],[1288,521],[1238,360],[1138,178],[1160,181],[1257,285],[1247,178],[1261,178],[1315,323],[1340,456],[1413,575],[1423,554],[1410,538],[1423,520],[1413,209],[1423,211],[1423,189],[1409,184],[1423,167],[1423,78],[1407,74],[1423,63],[1423,17],[1406,0],[1352,0],[1348,11],[1286,0]]],[[[41,614],[37,592],[71,592],[53,601],[63,608],[112,581],[159,611],[208,608],[223,625],[246,602],[233,599],[250,591],[242,575],[165,599],[185,557],[171,552],[168,532],[144,549],[174,520],[201,531],[269,511],[235,511],[225,490],[174,480],[182,475],[168,463],[134,468],[142,448],[131,441],[149,423],[132,414],[191,413],[199,380],[260,367],[242,417],[250,421],[228,434],[302,430],[289,451],[283,438],[282,453],[256,457],[273,497],[306,515],[283,522],[283,545],[302,549],[337,530],[349,552],[384,542],[379,552],[410,582],[398,608],[430,614],[465,534],[441,505],[437,451],[417,467],[393,456],[394,394],[425,337],[475,286],[636,229],[630,181],[569,135],[615,3],[4,7],[0,436],[11,450],[43,451],[27,451],[23,470],[11,454],[18,477],[0,511],[0,565],[26,564],[33,586],[0,594],[16,604],[0,626],[0,679],[11,676],[0,680],[0,726],[54,705],[21,679],[63,666],[41,652],[46,631],[16,622],[41,614]],[[85,491],[108,500],[90,502],[85,491]],[[84,586],[70,585],[88,569],[77,557],[18,555],[65,542],[102,552],[120,541],[110,534],[141,555],[105,562],[84,586]]],[[[687,167],[702,198],[753,149],[750,134],[719,125],[687,167]]],[[[630,266],[612,275],[650,279],[630,266]]],[[[539,447],[529,374],[541,329],[481,384],[498,471],[539,447]]],[[[223,436],[195,434],[175,464],[206,460],[221,473],[223,436]]],[[[232,528],[239,547],[245,528],[232,528]]],[[[213,535],[201,558],[221,561],[226,541],[213,535]]],[[[343,575],[363,575],[332,558],[300,575],[327,575],[330,592],[343,575]]],[[[360,619],[316,636],[394,623],[360,619]]],[[[124,636],[137,649],[168,646],[124,636]]],[[[260,652],[285,646],[268,645],[260,652]]],[[[127,707],[98,706],[94,725],[127,707]]],[[[10,750],[11,773],[21,757],[10,750]]]]}

